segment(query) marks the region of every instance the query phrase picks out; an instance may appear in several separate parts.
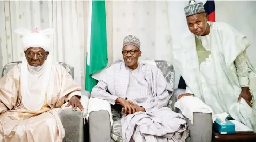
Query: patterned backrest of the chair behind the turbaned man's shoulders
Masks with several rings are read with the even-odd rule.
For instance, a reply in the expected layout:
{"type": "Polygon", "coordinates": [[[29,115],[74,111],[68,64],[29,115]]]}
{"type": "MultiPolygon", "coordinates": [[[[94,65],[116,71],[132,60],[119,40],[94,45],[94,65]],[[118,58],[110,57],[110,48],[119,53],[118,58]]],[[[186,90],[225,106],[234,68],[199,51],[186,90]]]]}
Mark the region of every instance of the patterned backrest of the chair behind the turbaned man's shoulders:
{"type": "MultiPolygon", "coordinates": [[[[18,65],[20,63],[21,63],[21,61],[7,63],[3,68],[1,77],[6,75],[15,65],[18,65]]],[[[74,67],[71,67],[68,64],[63,63],[63,62],[59,62],[59,64],[61,64],[74,79],[74,67]]]]}

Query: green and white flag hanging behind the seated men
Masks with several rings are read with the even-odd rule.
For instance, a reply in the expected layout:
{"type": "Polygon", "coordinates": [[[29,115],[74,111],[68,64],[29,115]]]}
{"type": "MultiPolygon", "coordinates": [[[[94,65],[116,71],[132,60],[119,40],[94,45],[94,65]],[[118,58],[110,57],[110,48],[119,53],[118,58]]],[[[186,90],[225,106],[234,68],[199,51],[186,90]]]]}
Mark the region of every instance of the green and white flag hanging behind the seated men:
{"type": "Polygon", "coordinates": [[[105,1],[90,1],[86,54],[85,90],[90,91],[97,81],[92,74],[107,66],[107,26],[105,1]]]}

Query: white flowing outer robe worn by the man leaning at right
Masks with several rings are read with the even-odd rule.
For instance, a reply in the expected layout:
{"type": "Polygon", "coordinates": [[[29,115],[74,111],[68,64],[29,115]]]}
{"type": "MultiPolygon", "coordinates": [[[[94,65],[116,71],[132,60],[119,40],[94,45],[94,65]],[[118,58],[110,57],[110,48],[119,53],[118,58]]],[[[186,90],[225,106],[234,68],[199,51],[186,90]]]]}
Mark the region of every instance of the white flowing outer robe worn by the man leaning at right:
{"type": "MultiPolygon", "coordinates": [[[[215,114],[228,113],[235,120],[241,121],[256,131],[255,107],[250,108],[244,99],[237,103],[241,86],[237,76],[234,60],[250,44],[246,36],[225,23],[211,23],[211,54],[200,65],[196,51],[195,35],[182,39],[179,49],[174,49],[174,59],[181,70],[191,92],[207,105],[215,114]]],[[[246,57],[249,72],[249,87],[256,94],[255,69],[246,57]]],[[[253,95],[255,104],[255,95],[253,95]]]]}

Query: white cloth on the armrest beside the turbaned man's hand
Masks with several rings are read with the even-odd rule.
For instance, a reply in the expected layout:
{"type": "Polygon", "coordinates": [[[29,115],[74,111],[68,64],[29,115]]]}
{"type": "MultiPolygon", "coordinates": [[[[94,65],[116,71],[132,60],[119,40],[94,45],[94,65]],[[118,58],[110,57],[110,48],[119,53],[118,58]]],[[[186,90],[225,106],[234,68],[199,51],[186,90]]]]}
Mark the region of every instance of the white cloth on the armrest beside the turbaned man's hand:
{"type": "MultiPolygon", "coordinates": [[[[83,120],[84,120],[84,124],[85,124],[85,118],[86,118],[87,109],[88,109],[88,103],[89,103],[88,96],[81,95],[80,102],[81,102],[82,106],[84,107],[84,110],[82,111],[82,114],[83,114],[83,120]]],[[[62,105],[61,111],[65,110],[65,109],[71,109],[72,108],[72,105],[70,105],[69,107],[65,107],[66,105],[68,105],[68,103],[69,102],[66,102],[65,104],[62,105]]],[[[77,111],[80,111],[80,109],[78,107],[77,107],[77,111]]]]}

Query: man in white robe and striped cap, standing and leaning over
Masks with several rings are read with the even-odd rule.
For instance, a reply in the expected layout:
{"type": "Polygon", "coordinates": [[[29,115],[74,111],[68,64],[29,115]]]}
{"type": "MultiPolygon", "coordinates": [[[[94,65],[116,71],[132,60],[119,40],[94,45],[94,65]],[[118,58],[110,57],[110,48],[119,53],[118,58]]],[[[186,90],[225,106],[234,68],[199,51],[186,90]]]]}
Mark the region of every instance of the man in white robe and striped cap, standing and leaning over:
{"type": "Polygon", "coordinates": [[[256,74],[246,36],[226,23],[207,22],[203,3],[191,1],[184,10],[192,34],[173,51],[187,85],[178,99],[194,95],[215,114],[227,113],[256,131],[256,74]]]}

